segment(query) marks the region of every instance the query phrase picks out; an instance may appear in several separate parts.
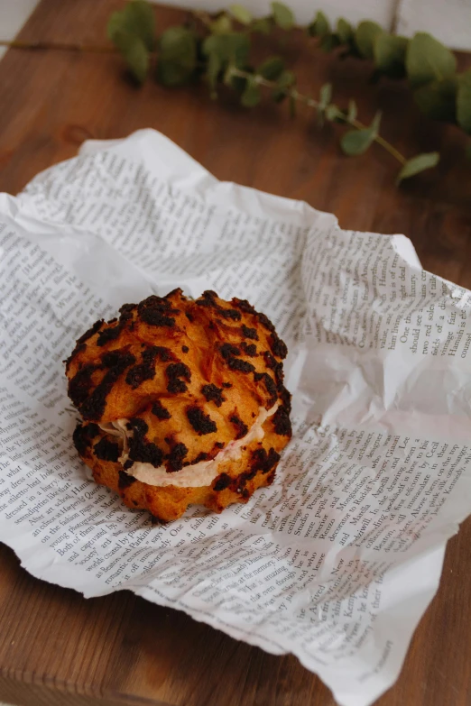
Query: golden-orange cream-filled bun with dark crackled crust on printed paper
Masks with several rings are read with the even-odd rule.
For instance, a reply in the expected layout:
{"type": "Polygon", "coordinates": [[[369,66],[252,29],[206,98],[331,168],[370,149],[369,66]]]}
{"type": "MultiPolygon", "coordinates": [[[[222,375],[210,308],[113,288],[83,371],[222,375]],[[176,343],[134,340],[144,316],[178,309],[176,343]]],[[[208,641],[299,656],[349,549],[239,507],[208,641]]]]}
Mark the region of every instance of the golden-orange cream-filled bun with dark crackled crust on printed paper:
{"type": "Polygon", "coordinates": [[[78,454],[128,507],[163,521],[193,503],[246,502],[272,482],[291,438],[286,353],[243,299],[175,289],[125,304],[66,362],[78,454]]]}

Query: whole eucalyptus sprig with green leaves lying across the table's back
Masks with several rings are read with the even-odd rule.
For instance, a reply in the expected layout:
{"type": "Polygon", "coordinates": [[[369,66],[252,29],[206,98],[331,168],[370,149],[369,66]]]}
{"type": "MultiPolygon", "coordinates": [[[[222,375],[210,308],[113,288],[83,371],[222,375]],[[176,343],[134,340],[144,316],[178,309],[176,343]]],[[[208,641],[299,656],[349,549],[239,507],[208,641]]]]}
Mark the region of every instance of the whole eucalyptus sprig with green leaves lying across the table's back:
{"type": "MultiPolygon", "coordinates": [[[[340,147],[347,155],[363,154],[373,143],[387,151],[400,164],[398,182],[438,164],[436,151],[411,158],[404,156],[379,132],[380,113],[371,124],[364,124],[357,119],[355,100],[344,107],[332,101],[330,84],[321,87],[316,97],[300,93],[294,73],[281,56],[267,57],[254,67],[251,50],[257,35],[270,34],[274,29],[277,32],[296,29],[291,9],[278,0],[272,2],[270,13],[264,17],[254,17],[244,5],[231,5],[216,14],[195,11],[190,14],[189,22],[160,35],[156,32],[152,5],[146,0],[131,0],[113,13],[107,23],[107,36],[114,47],[41,41],[0,41],[0,45],[42,50],[116,50],[140,84],[150,75],[167,87],[200,80],[207,84],[210,96],[215,99],[225,85],[236,92],[246,108],[258,105],[267,96],[275,103],[285,101],[292,116],[296,115],[297,105],[307,105],[316,114],[319,125],[327,121],[347,128],[340,139],[340,147]]],[[[370,61],[374,80],[382,77],[406,80],[424,115],[456,124],[471,134],[471,69],[457,73],[454,54],[430,34],[417,32],[407,39],[385,32],[370,20],[355,27],[343,18],[333,27],[321,12],[303,29],[321,50],[336,51],[339,58],[350,56],[370,61]]],[[[471,157],[469,148],[467,153],[471,157]]]]}

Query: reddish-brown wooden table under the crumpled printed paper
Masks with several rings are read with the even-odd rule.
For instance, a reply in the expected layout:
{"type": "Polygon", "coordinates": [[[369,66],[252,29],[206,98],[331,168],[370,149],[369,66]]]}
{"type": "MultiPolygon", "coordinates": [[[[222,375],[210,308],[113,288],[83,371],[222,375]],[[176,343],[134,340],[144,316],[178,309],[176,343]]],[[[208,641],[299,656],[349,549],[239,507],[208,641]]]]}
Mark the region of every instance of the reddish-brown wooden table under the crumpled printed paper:
{"type": "MultiPolygon", "coordinates": [[[[23,40],[101,41],[115,0],[42,0],[23,40]]],[[[159,8],[160,29],[182,13],[159,8]]],[[[276,48],[274,48],[276,50],[276,48]]],[[[273,50],[273,47],[271,48],[273,50]]],[[[212,102],[204,88],[169,90],[125,80],[115,56],[10,50],[0,63],[0,189],[19,191],[39,170],[72,157],[88,137],[154,127],[219,179],[334,212],[340,225],[411,237],[423,265],[471,287],[470,168],[454,128],[427,124],[401,84],[367,83],[361,62],[340,62],[293,37],[285,50],[313,93],[328,80],[359,113],[383,108],[383,134],[413,155],[443,151],[438,171],[396,189],[377,148],[344,157],[336,128],[286,108],[212,102]]],[[[460,60],[465,62],[466,58],[460,60]]],[[[467,64],[471,61],[467,60],[467,64]]],[[[23,706],[331,706],[293,656],[275,657],[128,591],[85,601],[33,579],[0,546],[0,700],[23,706]]],[[[471,521],[448,544],[437,598],[413,637],[399,681],[378,706],[471,703],[471,521]]]]}

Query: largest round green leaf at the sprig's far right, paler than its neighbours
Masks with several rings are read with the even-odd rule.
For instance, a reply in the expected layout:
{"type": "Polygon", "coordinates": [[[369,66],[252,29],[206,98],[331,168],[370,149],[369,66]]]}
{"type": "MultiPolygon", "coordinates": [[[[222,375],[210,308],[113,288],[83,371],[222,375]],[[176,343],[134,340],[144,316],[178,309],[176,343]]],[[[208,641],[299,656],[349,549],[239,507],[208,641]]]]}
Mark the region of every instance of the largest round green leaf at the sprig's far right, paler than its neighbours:
{"type": "Polygon", "coordinates": [[[417,32],[406,52],[407,76],[412,87],[452,78],[457,71],[454,54],[427,32],[417,32]]]}

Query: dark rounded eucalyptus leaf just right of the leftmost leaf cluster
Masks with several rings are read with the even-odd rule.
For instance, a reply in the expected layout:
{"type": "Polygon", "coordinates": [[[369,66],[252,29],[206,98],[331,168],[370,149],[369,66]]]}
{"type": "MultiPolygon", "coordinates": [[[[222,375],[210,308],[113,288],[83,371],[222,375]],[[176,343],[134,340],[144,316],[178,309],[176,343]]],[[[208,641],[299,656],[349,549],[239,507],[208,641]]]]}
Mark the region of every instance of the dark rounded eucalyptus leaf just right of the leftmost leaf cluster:
{"type": "Polygon", "coordinates": [[[157,78],[164,86],[182,86],[197,66],[197,39],[186,27],[171,27],[159,41],[157,78]]]}

